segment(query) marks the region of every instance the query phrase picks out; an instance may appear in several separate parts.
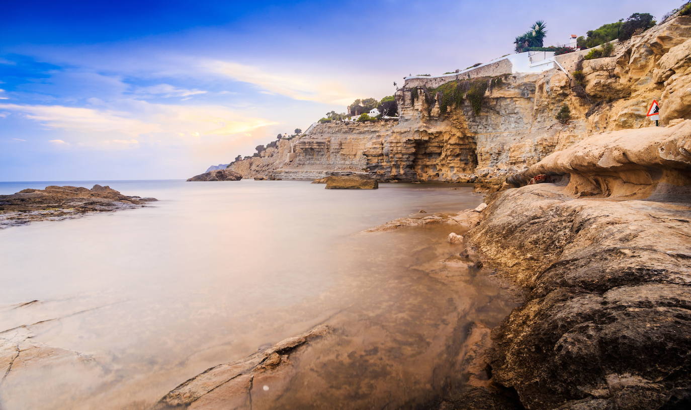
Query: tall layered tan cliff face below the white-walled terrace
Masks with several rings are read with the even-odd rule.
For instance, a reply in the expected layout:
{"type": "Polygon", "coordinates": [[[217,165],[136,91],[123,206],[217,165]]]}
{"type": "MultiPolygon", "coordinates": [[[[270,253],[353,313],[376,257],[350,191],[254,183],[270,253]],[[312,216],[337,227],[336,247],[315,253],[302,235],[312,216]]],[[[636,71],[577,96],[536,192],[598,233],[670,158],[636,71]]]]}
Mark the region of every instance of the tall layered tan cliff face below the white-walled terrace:
{"type": "Polygon", "coordinates": [[[440,109],[441,95],[430,95],[439,79],[415,78],[396,93],[399,122],[318,124],[230,168],[245,177],[367,171],[379,180],[482,181],[522,171],[592,133],[650,127],[645,114],[654,99],[661,124],[691,118],[691,17],[617,44],[612,57],[583,61],[585,53],[557,57],[568,75],[554,68],[484,78],[479,111],[467,96],[440,109]],[[562,105],[571,111],[567,124],[555,119],[562,105]]]}

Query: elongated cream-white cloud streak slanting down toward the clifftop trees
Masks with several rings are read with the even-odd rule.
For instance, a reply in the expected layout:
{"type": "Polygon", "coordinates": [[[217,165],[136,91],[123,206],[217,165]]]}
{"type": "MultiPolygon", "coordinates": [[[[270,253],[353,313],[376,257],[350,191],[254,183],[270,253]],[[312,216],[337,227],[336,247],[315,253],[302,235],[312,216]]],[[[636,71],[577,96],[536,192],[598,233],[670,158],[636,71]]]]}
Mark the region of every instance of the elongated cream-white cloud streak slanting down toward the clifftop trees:
{"type": "Polygon", "coordinates": [[[314,75],[266,71],[256,66],[213,59],[203,60],[198,66],[210,73],[254,84],[262,88],[263,91],[285,95],[294,100],[316,101],[325,104],[348,104],[356,98],[345,84],[334,80],[320,80],[314,75]]]}

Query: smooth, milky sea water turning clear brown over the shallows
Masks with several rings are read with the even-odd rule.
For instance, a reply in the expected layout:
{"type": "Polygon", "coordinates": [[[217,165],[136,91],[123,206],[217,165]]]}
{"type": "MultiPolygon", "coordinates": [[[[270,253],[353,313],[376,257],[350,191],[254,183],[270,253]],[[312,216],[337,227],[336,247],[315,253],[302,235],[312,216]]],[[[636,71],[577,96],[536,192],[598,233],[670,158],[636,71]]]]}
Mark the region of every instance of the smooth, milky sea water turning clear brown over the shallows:
{"type": "MultiPolygon", "coordinates": [[[[0,183],[0,194],[93,183],[0,183]]],[[[439,362],[457,354],[459,329],[494,326],[514,306],[486,272],[439,263],[462,250],[444,242],[450,225],[358,234],[419,209],[475,207],[467,187],[98,183],[160,201],[0,230],[4,410],[146,408],[321,323],[339,337],[310,351],[281,403],[402,405],[448,384],[457,369],[439,362]]]]}

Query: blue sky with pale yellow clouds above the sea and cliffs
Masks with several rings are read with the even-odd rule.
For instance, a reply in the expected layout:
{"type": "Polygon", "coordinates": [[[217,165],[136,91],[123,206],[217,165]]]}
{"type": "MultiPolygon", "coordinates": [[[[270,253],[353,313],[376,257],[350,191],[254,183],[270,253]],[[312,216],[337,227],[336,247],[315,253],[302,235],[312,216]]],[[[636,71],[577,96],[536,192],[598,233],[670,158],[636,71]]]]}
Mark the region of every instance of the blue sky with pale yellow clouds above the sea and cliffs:
{"type": "Polygon", "coordinates": [[[683,0],[0,0],[0,181],[182,179],[410,74],[683,0]]]}

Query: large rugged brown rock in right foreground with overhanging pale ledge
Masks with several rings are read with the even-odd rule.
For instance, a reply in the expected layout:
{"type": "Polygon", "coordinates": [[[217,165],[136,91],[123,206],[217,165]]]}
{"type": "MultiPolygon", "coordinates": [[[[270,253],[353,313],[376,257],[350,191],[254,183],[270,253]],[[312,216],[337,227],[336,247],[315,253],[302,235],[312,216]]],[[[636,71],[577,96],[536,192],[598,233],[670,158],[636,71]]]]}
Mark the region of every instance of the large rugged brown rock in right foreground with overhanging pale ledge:
{"type": "Polygon", "coordinates": [[[527,409],[691,403],[691,121],[593,136],[493,194],[466,237],[527,301],[494,330],[527,409]],[[567,184],[568,181],[568,184],[567,184]]]}

